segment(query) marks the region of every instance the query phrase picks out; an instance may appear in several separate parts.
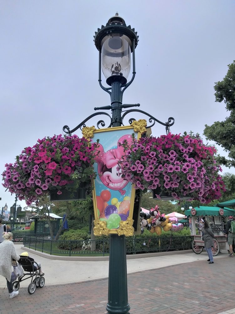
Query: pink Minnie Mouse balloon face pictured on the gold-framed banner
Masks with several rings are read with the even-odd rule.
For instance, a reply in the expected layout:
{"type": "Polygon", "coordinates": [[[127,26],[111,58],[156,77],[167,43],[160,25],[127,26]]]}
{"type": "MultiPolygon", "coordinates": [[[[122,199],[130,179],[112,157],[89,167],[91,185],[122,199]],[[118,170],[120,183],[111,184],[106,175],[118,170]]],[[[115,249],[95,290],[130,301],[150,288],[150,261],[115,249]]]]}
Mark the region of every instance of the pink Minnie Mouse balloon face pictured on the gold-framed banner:
{"type": "MultiPolygon", "coordinates": [[[[124,140],[127,140],[129,144],[132,143],[131,135],[123,135],[119,138],[118,143],[123,142],[124,140]]],[[[99,152],[95,162],[98,164],[98,175],[100,180],[106,187],[111,190],[119,191],[121,195],[124,195],[126,191],[123,190],[123,188],[128,184],[128,181],[123,178],[117,170],[118,161],[124,156],[123,147],[118,146],[117,148],[104,152],[103,146],[98,144],[96,150],[99,152]]]]}

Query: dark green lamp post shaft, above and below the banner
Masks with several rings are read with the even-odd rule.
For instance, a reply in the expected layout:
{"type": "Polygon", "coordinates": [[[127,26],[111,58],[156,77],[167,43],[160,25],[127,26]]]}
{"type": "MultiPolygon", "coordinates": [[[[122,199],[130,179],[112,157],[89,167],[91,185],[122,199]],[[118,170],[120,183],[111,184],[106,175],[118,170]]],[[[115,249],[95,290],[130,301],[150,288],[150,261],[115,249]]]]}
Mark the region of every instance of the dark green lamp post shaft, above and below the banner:
{"type": "MultiPolygon", "coordinates": [[[[120,127],[122,118],[121,83],[112,83],[111,110],[112,126],[120,127]]],[[[128,314],[130,306],[127,291],[126,237],[110,235],[109,275],[108,275],[108,314],[128,314]]]]}

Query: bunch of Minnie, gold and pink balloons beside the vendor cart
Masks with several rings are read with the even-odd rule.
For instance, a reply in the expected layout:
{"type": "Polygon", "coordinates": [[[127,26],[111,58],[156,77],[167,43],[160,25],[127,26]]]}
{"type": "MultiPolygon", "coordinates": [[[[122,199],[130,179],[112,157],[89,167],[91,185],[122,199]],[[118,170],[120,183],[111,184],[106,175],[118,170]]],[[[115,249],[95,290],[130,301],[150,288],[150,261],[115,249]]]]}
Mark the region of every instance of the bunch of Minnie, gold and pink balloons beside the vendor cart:
{"type": "Polygon", "coordinates": [[[184,225],[179,223],[178,218],[169,217],[165,214],[161,214],[159,206],[156,205],[155,208],[151,208],[149,213],[140,212],[140,226],[141,233],[144,232],[144,228],[149,230],[151,233],[156,233],[158,236],[161,235],[162,229],[164,231],[181,231],[184,225]]]}

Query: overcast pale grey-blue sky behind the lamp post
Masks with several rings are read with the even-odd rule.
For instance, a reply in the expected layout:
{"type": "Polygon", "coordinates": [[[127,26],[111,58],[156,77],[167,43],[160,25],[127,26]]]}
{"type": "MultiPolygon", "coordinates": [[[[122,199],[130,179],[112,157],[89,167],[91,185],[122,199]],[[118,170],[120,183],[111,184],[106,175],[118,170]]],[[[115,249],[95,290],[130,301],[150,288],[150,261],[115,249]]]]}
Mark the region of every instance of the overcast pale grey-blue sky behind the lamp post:
{"type": "MultiPolygon", "coordinates": [[[[1,173],[38,138],[62,133],[65,124],[72,129],[94,107],[110,104],[98,84],[93,35],[117,11],[139,35],[137,74],[123,103],[140,103],[163,122],[173,116],[172,133],[202,135],[205,124],[228,115],[213,86],[235,59],[233,0],[1,0],[1,173]]],[[[12,206],[14,195],[2,186],[0,197],[0,208],[12,206]]]]}

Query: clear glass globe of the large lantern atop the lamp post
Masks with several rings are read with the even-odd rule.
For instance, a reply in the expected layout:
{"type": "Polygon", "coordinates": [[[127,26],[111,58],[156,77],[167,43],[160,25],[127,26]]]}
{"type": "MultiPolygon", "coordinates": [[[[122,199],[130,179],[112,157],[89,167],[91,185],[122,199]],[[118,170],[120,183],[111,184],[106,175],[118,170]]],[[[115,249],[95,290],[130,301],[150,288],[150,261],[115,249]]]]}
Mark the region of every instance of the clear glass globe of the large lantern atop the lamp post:
{"type": "Polygon", "coordinates": [[[131,69],[131,41],[123,34],[107,35],[101,43],[102,71],[107,84],[126,84],[131,69]],[[118,78],[119,77],[119,78],[118,78]]]}

